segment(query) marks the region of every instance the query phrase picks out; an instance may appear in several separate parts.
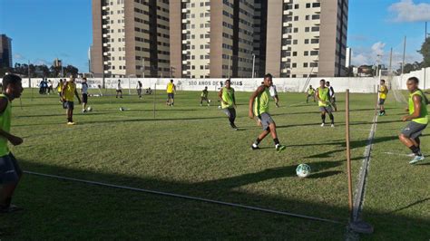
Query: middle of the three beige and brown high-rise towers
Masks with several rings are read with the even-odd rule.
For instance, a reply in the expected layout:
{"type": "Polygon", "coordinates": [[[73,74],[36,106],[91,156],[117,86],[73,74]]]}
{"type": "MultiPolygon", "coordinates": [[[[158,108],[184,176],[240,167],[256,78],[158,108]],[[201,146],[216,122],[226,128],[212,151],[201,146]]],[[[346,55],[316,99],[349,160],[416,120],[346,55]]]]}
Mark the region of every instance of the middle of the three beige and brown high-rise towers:
{"type": "Polygon", "coordinates": [[[175,70],[175,77],[251,76],[253,2],[171,1],[170,23],[171,66],[175,70]]]}

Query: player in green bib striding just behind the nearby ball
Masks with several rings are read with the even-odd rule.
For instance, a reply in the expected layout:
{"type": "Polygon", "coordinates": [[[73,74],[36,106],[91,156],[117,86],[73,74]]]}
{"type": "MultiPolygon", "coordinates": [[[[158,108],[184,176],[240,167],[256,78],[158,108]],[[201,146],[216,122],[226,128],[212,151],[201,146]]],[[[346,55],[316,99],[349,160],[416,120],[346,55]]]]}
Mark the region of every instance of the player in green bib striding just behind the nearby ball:
{"type": "Polygon", "coordinates": [[[269,88],[272,84],[272,75],[268,73],[264,76],[264,83],[259,86],[257,91],[252,93],[249,99],[249,118],[254,119],[254,116],[257,116],[263,127],[263,132],[252,143],[251,149],[259,149],[259,142],[269,135],[269,133],[273,138],[273,142],[275,142],[275,149],[278,151],[286,149],[286,146],[279,144],[276,124],[269,114],[269,88]]]}

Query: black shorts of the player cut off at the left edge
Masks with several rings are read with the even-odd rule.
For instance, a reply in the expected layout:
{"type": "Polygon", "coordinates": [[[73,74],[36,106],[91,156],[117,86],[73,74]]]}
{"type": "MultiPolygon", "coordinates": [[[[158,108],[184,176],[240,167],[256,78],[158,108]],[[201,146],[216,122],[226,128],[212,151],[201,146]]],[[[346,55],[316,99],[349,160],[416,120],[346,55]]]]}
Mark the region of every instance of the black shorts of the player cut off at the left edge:
{"type": "Polygon", "coordinates": [[[23,170],[12,153],[0,157],[0,185],[14,183],[21,175],[23,175],[23,170]]]}

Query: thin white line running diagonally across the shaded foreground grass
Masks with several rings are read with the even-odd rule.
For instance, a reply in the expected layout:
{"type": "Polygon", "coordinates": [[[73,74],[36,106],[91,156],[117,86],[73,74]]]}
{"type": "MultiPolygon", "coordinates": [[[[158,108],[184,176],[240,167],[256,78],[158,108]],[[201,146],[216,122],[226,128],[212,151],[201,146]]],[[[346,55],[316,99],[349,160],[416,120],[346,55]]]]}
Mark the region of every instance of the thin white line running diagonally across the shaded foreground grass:
{"type": "Polygon", "coordinates": [[[331,220],[331,219],[327,219],[327,218],[310,217],[310,216],[305,216],[305,215],[298,215],[298,214],[293,214],[293,213],[288,213],[288,212],[283,212],[283,211],[272,210],[272,209],[268,209],[268,208],[251,207],[251,206],[246,206],[246,205],[241,205],[241,204],[235,204],[235,203],[229,203],[229,202],[222,202],[222,201],[217,201],[217,200],[212,200],[212,199],[196,198],[196,197],[191,197],[191,196],[185,196],[185,195],[181,195],[181,194],[174,194],[174,193],[168,193],[168,192],[154,191],[154,190],[143,189],[143,188],[132,188],[132,187],[127,187],[127,186],[119,186],[119,185],[113,185],[113,184],[108,184],[108,183],[103,183],[103,182],[97,182],[97,181],[90,181],[90,180],[84,180],[84,179],[78,179],[78,178],[66,178],[66,177],[61,177],[61,176],[56,176],[56,175],[38,173],[38,172],[34,172],[34,171],[24,171],[24,173],[27,173],[27,174],[30,174],[30,175],[35,175],[35,176],[41,176],[41,177],[45,177],[45,178],[58,178],[58,179],[64,179],[64,180],[69,180],[69,181],[75,181],[75,182],[81,182],[81,183],[86,183],[86,184],[92,184],[92,185],[96,185],[96,186],[103,186],[103,187],[109,187],[109,188],[127,189],[127,190],[132,190],[132,191],[151,193],[151,194],[155,194],[155,195],[168,196],[168,197],[172,197],[172,198],[184,198],[184,199],[190,199],[190,200],[207,202],[207,203],[224,205],[224,206],[230,206],[230,207],[240,207],[240,208],[250,209],[250,210],[254,210],[254,211],[260,211],[260,212],[278,214],[278,215],[283,215],[283,216],[288,216],[288,217],[300,217],[300,218],[306,218],[306,219],[310,219],[310,220],[314,220],[314,221],[322,221],[322,222],[327,222],[327,223],[332,223],[332,224],[339,224],[339,225],[344,225],[345,224],[343,222],[340,222],[340,221],[337,221],[337,220],[331,220]]]}

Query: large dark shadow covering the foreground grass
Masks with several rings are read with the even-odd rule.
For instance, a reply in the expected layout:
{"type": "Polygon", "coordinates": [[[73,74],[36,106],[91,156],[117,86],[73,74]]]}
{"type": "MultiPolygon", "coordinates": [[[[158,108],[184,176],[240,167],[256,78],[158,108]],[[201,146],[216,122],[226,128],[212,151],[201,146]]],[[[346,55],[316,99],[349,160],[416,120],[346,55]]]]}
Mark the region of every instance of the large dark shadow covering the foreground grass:
{"type": "MultiPolygon", "coordinates": [[[[321,162],[319,165],[328,169],[336,167],[339,162],[321,162]]],[[[237,189],[273,178],[295,178],[295,167],[293,166],[190,183],[105,174],[36,164],[31,161],[21,161],[21,164],[25,170],[47,174],[267,207],[347,223],[347,204],[337,207],[327,203],[312,202],[310,197],[304,200],[288,198],[285,195],[279,197],[248,192],[247,189],[237,189]]],[[[303,179],[303,181],[328,178],[340,173],[342,172],[321,172],[303,179]]],[[[109,237],[112,239],[139,236],[146,238],[271,237],[275,239],[289,236],[300,239],[306,237],[341,239],[345,232],[344,225],[269,215],[180,198],[142,194],[131,190],[96,187],[54,178],[25,175],[23,181],[26,182],[28,179],[30,182],[22,184],[15,194],[17,197],[15,202],[18,201],[17,204],[25,207],[26,210],[23,213],[2,217],[0,220],[2,236],[17,239],[49,239],[64,236],[72,239],[81,237],[109,237]],[[116,219],[121,222],[121,225],[115,223],[116,219]],[[298,232],[298,230],[302,231],[298,232]]],[[[388,238],[423,237],[423,231],[428,233],[428,229],[425,227],[430,225],[428,219],[381,214],[375,210],[368,211],[366,216],[374,218],[373,225],[376,235],[388,238]],[[386,219],[398,220],[400,223],[386,222],[386,219]],[[385,221],[384,225],[381,225],[379,221],[385,221]],[[405,223],[415,224],[414,228],[402,228],[405,223]]]]}

